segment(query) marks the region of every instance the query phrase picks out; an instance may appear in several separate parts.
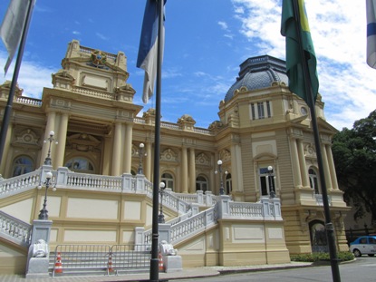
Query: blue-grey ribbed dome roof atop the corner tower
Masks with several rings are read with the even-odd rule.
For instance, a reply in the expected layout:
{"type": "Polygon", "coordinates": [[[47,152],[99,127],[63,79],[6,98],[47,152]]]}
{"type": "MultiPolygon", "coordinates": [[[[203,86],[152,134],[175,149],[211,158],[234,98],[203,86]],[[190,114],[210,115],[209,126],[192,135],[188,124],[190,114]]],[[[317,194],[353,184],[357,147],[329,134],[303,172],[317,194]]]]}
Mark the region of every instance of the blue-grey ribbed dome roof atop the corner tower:
{"type": "Polygon", "coordinates": [[[264,55],[247,59],[240,64],[239,76],[225,96],[225,102],[234,97],[236,89],[246,86],[249,91],[270,87],[272,83],[288,85],[286,64],[283,60],[264,55]]]}

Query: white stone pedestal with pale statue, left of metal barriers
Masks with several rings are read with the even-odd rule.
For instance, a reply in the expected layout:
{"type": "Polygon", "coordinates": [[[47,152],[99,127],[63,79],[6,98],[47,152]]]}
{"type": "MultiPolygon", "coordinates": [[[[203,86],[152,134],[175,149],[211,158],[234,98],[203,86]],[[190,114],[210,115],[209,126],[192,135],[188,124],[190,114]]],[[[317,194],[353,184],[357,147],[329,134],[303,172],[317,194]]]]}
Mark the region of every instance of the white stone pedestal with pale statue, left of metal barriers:
{"type": "Polygon", "coordinates": [[[35,219],[33,233],[27,256],[26,278],[49,277],[49,242],[52,220],[35,219]]]}

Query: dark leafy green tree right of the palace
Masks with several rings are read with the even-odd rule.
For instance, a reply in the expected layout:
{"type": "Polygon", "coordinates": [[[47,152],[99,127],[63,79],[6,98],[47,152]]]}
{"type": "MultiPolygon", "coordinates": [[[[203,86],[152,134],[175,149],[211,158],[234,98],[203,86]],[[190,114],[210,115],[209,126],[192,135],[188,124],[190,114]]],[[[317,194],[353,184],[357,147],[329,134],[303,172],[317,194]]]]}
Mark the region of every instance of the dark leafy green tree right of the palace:
{"type": "Polygon", "coordinates": [[[371,214],[376,223],[376,110],[333,136],[333,159],[343,199],[355,208],[354,219],[371,214]]]}

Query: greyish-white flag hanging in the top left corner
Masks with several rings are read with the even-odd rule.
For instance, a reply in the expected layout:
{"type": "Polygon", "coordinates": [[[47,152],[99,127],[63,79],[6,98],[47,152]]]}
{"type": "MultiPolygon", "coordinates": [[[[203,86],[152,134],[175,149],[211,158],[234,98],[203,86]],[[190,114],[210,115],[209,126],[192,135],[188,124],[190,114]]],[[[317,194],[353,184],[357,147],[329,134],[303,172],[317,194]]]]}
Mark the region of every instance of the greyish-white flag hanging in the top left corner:
{"type": "Polygon", "coordinates": [[[29,5],[29,0],[11,0],[3,24],[0,26],[0,37],[8,51],[8,60],[4,67],[5,74],[8,71],[9,65],[12,63],[14,53],[20,44],[29,5]]]}

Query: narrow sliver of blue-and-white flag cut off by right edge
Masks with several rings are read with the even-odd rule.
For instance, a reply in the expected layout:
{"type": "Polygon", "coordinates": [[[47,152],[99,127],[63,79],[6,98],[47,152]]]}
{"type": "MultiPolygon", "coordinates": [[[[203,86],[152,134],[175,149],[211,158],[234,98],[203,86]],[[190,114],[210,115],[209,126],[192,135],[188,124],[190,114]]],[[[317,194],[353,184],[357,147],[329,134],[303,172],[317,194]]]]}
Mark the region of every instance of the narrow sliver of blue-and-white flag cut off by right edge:
{"type": "Polygon", "coordinates": [[[376,69],[376,0],[366,0],[367,8],[367,63],[376,69]]]}

